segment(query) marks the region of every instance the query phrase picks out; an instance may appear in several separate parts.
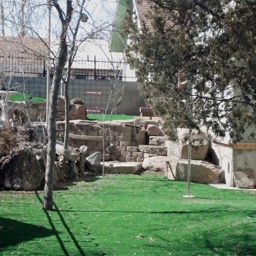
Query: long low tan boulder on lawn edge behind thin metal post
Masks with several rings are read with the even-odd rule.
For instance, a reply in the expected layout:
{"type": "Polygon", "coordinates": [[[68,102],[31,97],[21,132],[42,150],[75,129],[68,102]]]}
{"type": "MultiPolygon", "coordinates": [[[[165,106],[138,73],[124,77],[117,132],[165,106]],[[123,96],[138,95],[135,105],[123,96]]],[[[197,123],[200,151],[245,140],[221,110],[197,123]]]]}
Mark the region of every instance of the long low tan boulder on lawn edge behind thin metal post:
{"type": "MultiPolygon", "coordinates": [[[[172,160],[169,157],[165,165],[165,177],[170,180],[187,181],[187,160],[172,160]]],[[[209,184],[212,180],[219,180],[222,172],[216,165],[202,160],[191,160],[190,181],[209,184]]]]}

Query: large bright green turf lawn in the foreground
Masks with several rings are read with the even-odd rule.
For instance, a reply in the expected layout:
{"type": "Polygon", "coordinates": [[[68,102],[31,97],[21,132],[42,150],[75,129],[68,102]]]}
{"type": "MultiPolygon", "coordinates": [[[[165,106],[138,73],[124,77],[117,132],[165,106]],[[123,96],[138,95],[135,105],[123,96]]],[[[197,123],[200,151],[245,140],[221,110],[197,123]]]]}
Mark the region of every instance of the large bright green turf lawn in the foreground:
{"type": "Polygon", "coordinates": [[[160,174],[106,175],[54,191],[2,191],[0,255],[256,255],[255,192],[160,174]]]}

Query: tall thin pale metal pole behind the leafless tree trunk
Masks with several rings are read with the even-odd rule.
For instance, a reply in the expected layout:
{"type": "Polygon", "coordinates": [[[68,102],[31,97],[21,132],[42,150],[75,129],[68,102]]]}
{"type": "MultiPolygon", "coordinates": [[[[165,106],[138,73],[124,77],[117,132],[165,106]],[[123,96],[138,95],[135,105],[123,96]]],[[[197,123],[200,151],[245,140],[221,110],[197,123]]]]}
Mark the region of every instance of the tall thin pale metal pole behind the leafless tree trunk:
{"type": "Polygon", "coordinates": [[[48,130],[48,116],[49,116],[49,95],[50,95],[50,72],[51,72],[51,0],[48,1],[48,58],[47,58],[47,83],[46,83],[46,129],[48,130]]]}

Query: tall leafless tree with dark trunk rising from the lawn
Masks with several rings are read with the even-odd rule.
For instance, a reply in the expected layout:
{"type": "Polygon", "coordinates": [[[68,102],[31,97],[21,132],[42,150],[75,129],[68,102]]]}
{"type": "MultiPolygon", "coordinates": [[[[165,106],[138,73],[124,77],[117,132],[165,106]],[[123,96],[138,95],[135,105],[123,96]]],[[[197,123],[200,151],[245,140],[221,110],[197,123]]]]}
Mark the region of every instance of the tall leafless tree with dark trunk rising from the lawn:
{"type": "MultiPolygon", "coordinates": [[[[2,29],[12,39],[14,36],[18,38],[22,51],[29,51],[29,46],[24,44],[21,37],[30,37],[41,40],[44,48],[51,52],[51,66],[54,68],[54,76],[51,86],[51,93],[49,96],[49,114],[48,114],[48,146],[47,146],[47,160],[46,160],[46,182],[44,187],[44,200],[42,208],[44,210],[51,210],[53,205],[53,174],[56,153],[56,111],[57,111],[57,97],[61,82],[65,83],[66,108],[68,104],[68,86],[71,77],[71,67],[76,56],[77,47],[82,41],[85,41],[90,36],[93,36],[99,31],[106,31],[110,27],[110,14],[102,16],[101,7],[104,2],[85,1],[85,0],[48,0],[46,4],[42,4],[37,0],[22,1],[13,4],[9,1],[8,7],[1,12],[1,16],[6,23],[2,29]],[[25,11],[26,5],[26,11],[25,11]],[[51,24],[47,24],[48,13],[47,5],[51,6],[51,24]],[[100,10],[99,10],[100,7],[100,10]],[[23,11],[22,11],[23,10],[23,11]],[[87,16],[87,17],[86,17],[87,16]],[[89,21],[86,26],[82,26],[81,22],[89,21]],[[25,22],[26,21],[26,22],[25,22]],[[8,26],[5,26],[8,24],[8,26]],[[49,29],[48,29],[49,27],[49,29]],[[51,37],[55,37],[55,48],[47,42],[48,31],[51,30],[51,37]],[[53,49],[54,48],[54,49],[53,49]],[[67,70],[67,76],[64,77],[64,71],[67,70]]],[[[0,6],[1,7],[1,6],[0,6]]],[[[112,17],[111,17],[112,21],[112,17]]],[[[3,22],[2,22],[3,24],[3,22]]],[[[36,52],[33,54],[42,54],[47,56],[45,52],[36,52]]],[[[48,72],[51,69],[48,65],[48,72]]],[[[69,116],[66,111],[66,140],[67,147],[69,116]]]]}

